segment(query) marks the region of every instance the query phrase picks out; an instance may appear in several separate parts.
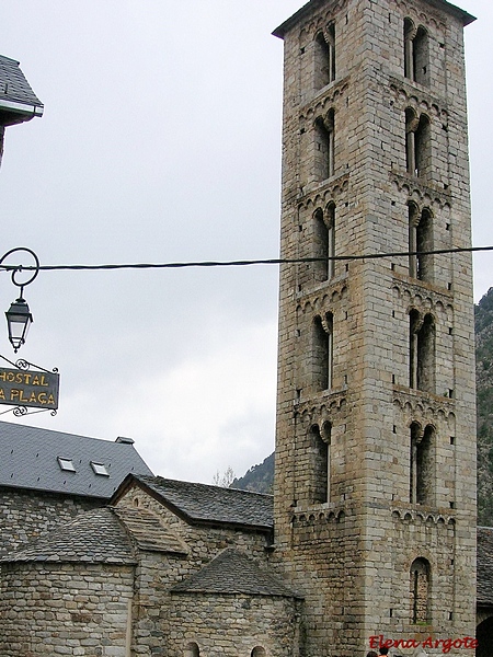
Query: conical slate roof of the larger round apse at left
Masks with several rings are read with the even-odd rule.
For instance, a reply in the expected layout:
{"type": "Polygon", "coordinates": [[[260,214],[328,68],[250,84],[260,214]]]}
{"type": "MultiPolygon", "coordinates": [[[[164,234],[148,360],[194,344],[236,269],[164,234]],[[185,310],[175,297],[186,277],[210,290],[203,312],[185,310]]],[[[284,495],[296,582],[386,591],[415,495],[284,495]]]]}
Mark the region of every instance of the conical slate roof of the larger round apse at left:
{"type": "Polygon", "coordinates": [[[1,562],[133,564],[136,560],[130,538],[114,511],[105,507],[80,514],[1,562]]]}

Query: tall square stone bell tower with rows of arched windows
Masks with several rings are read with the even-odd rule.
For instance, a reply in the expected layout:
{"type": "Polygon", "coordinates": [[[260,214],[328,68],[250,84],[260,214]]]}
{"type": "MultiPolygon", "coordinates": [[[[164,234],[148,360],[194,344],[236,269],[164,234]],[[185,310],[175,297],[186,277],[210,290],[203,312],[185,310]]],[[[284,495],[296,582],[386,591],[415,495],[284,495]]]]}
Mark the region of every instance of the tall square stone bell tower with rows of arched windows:
{"type": "Polygon", "coordinates": [[[474,636],[472,266],[437,253],[471,245],[472,20],[311,0],[274,33],[282,257],[306,258],[280,272],[274,558],[306,657],[474,636]]]}

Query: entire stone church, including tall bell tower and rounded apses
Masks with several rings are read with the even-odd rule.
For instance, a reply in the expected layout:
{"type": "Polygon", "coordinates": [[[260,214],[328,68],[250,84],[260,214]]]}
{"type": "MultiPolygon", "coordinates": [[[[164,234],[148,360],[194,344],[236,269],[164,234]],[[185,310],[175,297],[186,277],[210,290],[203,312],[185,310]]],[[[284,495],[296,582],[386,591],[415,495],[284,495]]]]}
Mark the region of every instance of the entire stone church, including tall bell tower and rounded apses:
{"type": "Polygon", "coordinates": [[[0,560],[2,657],[491,654],[491,530],[479,616],[475,587],[473,20],[446,0],[310,0],[274,32],[274,496],[129,474],[108,506],[0,560]]]}

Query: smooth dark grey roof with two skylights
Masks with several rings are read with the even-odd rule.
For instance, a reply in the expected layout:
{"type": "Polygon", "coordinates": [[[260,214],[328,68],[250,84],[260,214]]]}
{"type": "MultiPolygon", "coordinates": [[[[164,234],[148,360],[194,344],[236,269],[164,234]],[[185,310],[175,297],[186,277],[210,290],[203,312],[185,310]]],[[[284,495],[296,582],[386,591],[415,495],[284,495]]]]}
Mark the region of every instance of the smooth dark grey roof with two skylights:
{"type": "Polygon", "coordinates": [[[133,441],[111,442],[0,422],[0,486],[110,499],[128,473],[152,474],[133,441]],[[76,472],[61,470],[58,457],[76,472]],[[95,474],[91,461],[110,476],[95,474]]]}

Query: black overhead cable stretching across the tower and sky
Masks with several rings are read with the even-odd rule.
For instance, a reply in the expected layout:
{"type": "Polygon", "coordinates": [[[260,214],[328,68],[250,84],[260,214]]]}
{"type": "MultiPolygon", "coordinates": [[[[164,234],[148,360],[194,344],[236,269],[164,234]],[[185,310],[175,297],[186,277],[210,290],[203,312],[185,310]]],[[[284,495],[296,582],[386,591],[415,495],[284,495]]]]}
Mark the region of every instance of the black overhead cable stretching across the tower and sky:
{"type": "Polygon", "coordinates": [[[364,261],[379,260],[386,257],[410,257],[419,255],[444,255],[455,253],[474,253],[481,251],[493,251],[493,246],[469,246],[463,249],[438,249],[434,251],[395,251],[388,253],[367,253],[357,255],[332,255],[323,257],[295,257],[295,258],[260,258],[238,261],[197,261],[179,263],[130,263],[130,264],[105,264],[105,265],[0,265],[0,270],[5,272],[84,272],[84,270],[110,270],[110,269],[181,269],[185,267],[243,267],[250,265],[285,265],[298,263],[318,263],[329,261],[364,261]]]}

